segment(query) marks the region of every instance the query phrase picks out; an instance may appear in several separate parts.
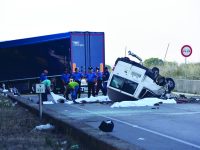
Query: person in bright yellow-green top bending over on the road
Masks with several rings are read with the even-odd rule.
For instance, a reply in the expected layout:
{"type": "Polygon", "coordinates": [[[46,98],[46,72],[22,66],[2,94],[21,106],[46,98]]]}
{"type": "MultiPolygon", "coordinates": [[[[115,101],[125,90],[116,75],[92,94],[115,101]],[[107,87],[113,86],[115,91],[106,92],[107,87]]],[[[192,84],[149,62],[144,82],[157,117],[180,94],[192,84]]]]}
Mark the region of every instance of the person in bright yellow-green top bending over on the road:
{"type": "Polygon", "coordinates": [[[77,99],[77,93],[79,89],[79,84],[75,81],[71,81],[68,84],[68,89],[71,93],[71,99],[74,103],[77,103],[75,100],[77,99]]]}

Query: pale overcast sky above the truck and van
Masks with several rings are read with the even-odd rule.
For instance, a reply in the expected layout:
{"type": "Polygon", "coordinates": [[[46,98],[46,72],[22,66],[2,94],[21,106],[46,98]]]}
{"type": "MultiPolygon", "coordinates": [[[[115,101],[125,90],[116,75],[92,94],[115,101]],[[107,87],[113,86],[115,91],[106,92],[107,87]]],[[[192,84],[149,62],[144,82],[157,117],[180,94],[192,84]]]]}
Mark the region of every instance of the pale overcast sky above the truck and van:
{"type": "Polygon", "coordinates": [[[131,50],[184,63],[200,62],[200,0],[0,0],[0,41],[63,33],[105,32],[106,64],[131,50]]]}

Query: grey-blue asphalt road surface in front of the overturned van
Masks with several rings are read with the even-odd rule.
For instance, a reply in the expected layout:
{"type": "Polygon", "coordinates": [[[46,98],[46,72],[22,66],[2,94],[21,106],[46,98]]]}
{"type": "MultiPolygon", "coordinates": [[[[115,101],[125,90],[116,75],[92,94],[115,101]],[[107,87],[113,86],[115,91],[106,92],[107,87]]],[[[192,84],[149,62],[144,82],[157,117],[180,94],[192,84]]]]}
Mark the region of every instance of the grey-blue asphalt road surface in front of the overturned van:
{"type": "MultiPolygon", "coordinates": [[[[26,96],[27,97],[27,96],[26,96]]],[[[34,102],[36,96],[28,96],[34,102]]],[[[111,104],[46,104],[44,107],[84,121],[98,129],[112,120],[109,133],[148,150],[200,149],[200,104],[162,104],[155,107],[111,108],[111,104]]]]}

